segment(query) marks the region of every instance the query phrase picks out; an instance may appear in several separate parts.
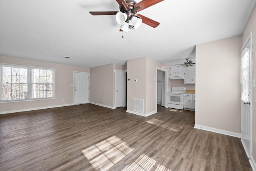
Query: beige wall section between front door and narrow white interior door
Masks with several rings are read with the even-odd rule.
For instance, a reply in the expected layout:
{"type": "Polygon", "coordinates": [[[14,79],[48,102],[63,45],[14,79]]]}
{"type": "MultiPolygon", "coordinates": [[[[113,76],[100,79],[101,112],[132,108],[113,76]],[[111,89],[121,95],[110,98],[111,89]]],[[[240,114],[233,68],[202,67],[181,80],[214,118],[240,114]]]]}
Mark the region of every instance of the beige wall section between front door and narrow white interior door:
{"type": "Polygon", "coordinates": [[[114,64],[90,68],[90,103],[113,108],[114,64]]]}

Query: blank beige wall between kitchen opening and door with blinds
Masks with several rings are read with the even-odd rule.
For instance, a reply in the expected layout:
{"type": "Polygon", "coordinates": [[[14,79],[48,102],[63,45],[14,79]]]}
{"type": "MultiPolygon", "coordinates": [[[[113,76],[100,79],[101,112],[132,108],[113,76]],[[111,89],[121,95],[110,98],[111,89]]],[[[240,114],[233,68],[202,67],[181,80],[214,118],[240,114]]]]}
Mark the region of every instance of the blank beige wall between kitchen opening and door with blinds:
{"type": "Polygon", "coordinates": [[[241,40],[196,45],[196,125],[240,134],[241,40]]]}

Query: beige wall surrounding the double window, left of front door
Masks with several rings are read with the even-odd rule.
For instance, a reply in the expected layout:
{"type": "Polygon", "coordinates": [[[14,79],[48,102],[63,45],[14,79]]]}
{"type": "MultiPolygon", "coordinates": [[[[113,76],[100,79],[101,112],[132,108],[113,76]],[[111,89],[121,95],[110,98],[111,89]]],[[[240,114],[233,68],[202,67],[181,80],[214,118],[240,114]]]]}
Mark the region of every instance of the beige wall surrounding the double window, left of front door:
{"type": "Polygon", "coordinates": [[[33,100],[33,101],[18,101],[18,102],[5,102],[0,103],[0,112],[9,113],[10,111],[23,111],[33,108],[47,108],[62,105],[73,105],[73,76],[74,71],[77,72],[90,72],[90,68],[82,68],[76,66],[68,66],[62,64],[55,64],[49,62],[40,62],[35,60],[26,60],[21,58],[13,58],[7,56],[0,56],[0,63],[15,64],[24,66],[35,66],[43,68],[55,68],[55,89],[56,98],[46,100],[33,100]],[[64,99],[64,102],[62,102],[64,99]]]}

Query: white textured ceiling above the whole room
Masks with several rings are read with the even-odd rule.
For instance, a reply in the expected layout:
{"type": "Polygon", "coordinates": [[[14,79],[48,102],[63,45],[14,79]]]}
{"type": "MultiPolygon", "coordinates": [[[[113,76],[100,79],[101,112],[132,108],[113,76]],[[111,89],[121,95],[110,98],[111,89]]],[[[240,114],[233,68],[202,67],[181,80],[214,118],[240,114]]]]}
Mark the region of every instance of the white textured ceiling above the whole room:
{"type": "Polygon", "coordinates": [[[114,15],[89,14],[119,11],[116,0],[0,0],[0,55],[87,68],[142,56],[171,64],[195,58],[196,44],[241,35],[255,4],[164,0],[138,12],[158,27],[123,33],[114,15]]]}

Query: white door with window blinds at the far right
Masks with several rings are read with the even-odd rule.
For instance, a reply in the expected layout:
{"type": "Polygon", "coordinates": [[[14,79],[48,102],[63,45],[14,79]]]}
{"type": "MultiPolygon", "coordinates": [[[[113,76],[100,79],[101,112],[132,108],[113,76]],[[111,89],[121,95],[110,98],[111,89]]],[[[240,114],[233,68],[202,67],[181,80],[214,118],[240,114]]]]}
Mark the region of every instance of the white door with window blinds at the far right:
{"type": "Polygon", "coordinates": [[[241,54],[241,135],[248,158],[252,143],[252,33],[242,47],[241,54]]]}

